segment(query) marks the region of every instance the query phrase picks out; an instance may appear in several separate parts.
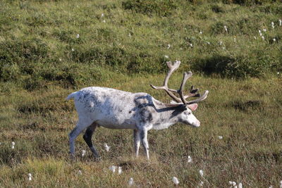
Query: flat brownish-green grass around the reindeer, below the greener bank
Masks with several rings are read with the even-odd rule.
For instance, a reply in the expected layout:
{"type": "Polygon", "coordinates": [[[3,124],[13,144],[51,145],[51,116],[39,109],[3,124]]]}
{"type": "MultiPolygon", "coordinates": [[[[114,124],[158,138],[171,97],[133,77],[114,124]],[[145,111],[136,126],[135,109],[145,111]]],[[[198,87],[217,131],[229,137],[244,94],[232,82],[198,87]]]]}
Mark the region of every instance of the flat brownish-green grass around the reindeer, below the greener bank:
{"type": "MultiPolygon", "coordinates": [[[[166,94],[149,88],[149,83],[160,84],[162,76],[121,77],[119,82],[114,79],[102,85],[148,92],[168,101],[166,94]]],[[[172,77],[171,86],[177,87],[180,79],[172,77]]],[[[94,135],[102,161],[93,160],[80,135],[77,160],[71,162],[68,132],[77,116],[73,101],[64,101],[71,92],[68,89],[19,89],[12,96],[2,95],[0,183],[7,187],[124,187],[133,177],[142,187],[171,187],[171,178],[176,176],[180,187],[195,187],[200,181],[205,187],[227,187],[228,181],[243,182],[247,187],[278,186],[282,173],[281,77],[234,81],[194,76],[191,82],[210,90],[208,99],[195,111],[202,126],[192,129],[175,125],[150,131],[149,162],[143,152],[140,158],[134,158],[130,130],[103,127],[94,135]],[[11,149],[11,142],[16,142],[15,149],[11,149]],[[109,152],[104,150],[104,143],[111,146],[109,152]],[[84,158],[82,149],[87,151],[84,158]],[[193,163],[187,162],[188,156],[193,163]],[[121,165],[123,174],[113,175],[111,165],[121,165]],[[204,179],[200,169],[204,170],[204,179]],[[78,170],[82,170],[81,176],[78,170]],[[32,182],[27,180],[27,173],[32,173],[32,182]]]]}

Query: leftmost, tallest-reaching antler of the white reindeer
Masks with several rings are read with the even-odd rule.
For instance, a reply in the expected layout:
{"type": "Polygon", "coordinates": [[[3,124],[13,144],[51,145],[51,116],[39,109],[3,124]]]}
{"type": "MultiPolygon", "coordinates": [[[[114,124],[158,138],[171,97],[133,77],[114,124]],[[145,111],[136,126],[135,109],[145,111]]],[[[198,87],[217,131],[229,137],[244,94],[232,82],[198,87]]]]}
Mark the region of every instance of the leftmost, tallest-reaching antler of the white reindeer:
{"type": "Polygon", "coordinates": [[[178,69],[178,67],[179,67],[179,65],[180,65],[180,61],[176,61],[175,63],[171,63],[171,61],[168,61],[168,62],[166,62],[166,65],[168,65],[169,70],[168,70],[168,73],[166,74],[166,77],[164,78],[164,86],[156,87],[156,86],[154,86],[154,85],[152,85],[152,84],[150,84],[150,85],[151,85],[151,87],[152,87],[153,89],[163,89],[164,91],[166,91],[166,93],[167,93],[169,96],[171,96],[171,98],[172,98],[174,101],[180,103],[181,100],[180,100],[177,96],[175,96],[175,95],[173,94],[173,92],[174,92],[174,93],[178,93],[178,91],[177,91],[176,89],[169,89],[169,88],[168,88],[168,80],[169,80],[169,78],[171,77],[172,73],[173,73],[174,71],[176,71],[176,69],[178,69]]]}

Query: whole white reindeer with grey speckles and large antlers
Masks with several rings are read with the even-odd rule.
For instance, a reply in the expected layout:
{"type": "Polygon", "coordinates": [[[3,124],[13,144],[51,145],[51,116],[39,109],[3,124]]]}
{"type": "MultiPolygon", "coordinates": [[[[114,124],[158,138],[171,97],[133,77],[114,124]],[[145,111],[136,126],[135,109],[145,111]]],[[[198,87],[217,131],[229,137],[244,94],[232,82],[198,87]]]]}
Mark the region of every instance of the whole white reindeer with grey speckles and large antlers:
{"type": "Polygon", "coordinates": [[[174,104],[164,104],[147,93],[133,94],[106,87],[86,87],[70,94],[66,99],[74,99],[79,118],[76,127],[69,134],[71,156],[74,158],[75,139],[85,128],[87,130],[83,139],[96,158],[99,157],[99,154],[93,146],[91,138],[96,128],[102,126],[110,129],[132,129],[135,156],[138,156],[142,141],[147,159],[149,159],[148,130],[162,130],[176,123],[199,127],[200,121],[192,115],[192,111],[196,110],[197,102],[207,98],[209,91],[205,91],[200,96],[197,94],[198,89],[191,87],[190,93],[187,96],[183,95],[185,82],[192,76],[190,71],[183,74],[180,89],[169,89],[168,79],[179,67],[180,61],[167,62],[167,65],[169,70],[164,80],[164,86],[155,87],[151,84],[151,87],[166,91],[173,101],[176,101],[174,104]],[[180,98],[175,94],[179,94],[180,98]],[[199,98],[186,101],[191,96],[199,98]]]}

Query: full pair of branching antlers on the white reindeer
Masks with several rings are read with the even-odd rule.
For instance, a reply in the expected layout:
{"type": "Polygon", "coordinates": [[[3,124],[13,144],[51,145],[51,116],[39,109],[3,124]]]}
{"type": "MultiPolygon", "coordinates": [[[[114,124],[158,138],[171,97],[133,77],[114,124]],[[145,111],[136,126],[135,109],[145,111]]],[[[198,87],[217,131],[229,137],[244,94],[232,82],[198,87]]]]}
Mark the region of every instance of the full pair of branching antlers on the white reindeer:
{"type": "Polygon", "coordinates": [[[161,87],[156,87],[152,84],[151,87],[154,88],[154,89],[163,89],[166,91],[166,93],[171,96],[171,98],[178,102],[178,103],[181,103],[183,102],[183,104],[195,104],[197,102],[200,102],[200,101],[203,101],[204,99],[207,98],[207,94],[209,94],[209,91],[204,91],[204,94],[202,94],[202,96],[200,94],[198,94],[197,92],[199,91],[199,89],[195,89],[194,86],[192,86],[190,88],[190,92],[188,95],[186,96],[183,96],[183,89],[184,89],[184,86],[185,86],[185,83],[186,81],[192,76],[192,72],[191,71],[188,71],[188,73],[183,73],[183,80],[180,84],[180,89],[176,90],[176,89],[169,89],[168,88],[168,79],[171,77],[172,73],[179,67],[180,65],[180,61],[176,61],[174,64],[171,63],[171,61],[168,61],[166,63],[168,65],[168,73],[164,79],[164,86],[161,86],[161,87]],[[175,96],[173,93],[177,93],[179,94],[180,96],[180,99],[175,96]],[[195,99],[195,100],[192,100],[192,101],[186,101],[186,99],[188,99],[189,97],[199,97],[198,99],[195,99]]]}

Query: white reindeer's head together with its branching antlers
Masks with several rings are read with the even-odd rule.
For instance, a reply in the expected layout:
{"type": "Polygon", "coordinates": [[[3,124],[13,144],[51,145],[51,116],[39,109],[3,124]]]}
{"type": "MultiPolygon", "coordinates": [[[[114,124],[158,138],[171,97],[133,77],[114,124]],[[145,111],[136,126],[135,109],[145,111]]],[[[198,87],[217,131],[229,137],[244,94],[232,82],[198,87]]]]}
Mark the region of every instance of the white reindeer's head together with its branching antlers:
{"type": "MultiPolygon", "coordinates": [[[[186,125],[191,125],[192,127],[200,127],[200,121],[197,120],[195,115],[192,114],[192,111],[195,111],[197,109],[197,103],[200,101],[203,101],[207,98],[207,94],[209,94],[209,91],[204,91],[204,94],[200,95],[198,93],[199,89],[195,89],[193,86],[190,87],[190,92],[188,95],[183,95],[183,89],[185,86],[186,81],[188,78],[192,76],[192,72],[183,73],[183,80],[180,84],[180,89],[169,89],[168,88],[168,79],[171,77],[172,73],[178,69],[180,65],[180,61],[176,61],[174,63],[171,63],[171,61],[166,62],[168,65],[168,73],[164,79],[164,85],[161,87],[156,87],[152,84],[151,87],[154,89],[161,89],[164,90],[171,98],[173,99],[173,106],[176,107],[176,111],[173,112],[178,117],[178,121],[180,123],[184,123],[186,125]],[[180,98],[178,98],[175,94],[179,94],[180,98]],[[189,97],[198,97],[198,99],[192,100],[192,101],[186,101],[189,97]]],[[[174,116],[175,116],[174,115],[174,116]]]]}

